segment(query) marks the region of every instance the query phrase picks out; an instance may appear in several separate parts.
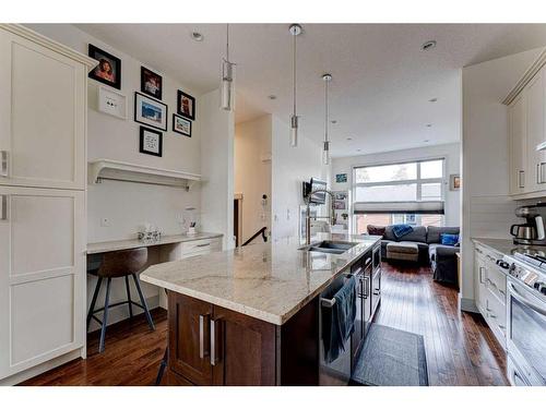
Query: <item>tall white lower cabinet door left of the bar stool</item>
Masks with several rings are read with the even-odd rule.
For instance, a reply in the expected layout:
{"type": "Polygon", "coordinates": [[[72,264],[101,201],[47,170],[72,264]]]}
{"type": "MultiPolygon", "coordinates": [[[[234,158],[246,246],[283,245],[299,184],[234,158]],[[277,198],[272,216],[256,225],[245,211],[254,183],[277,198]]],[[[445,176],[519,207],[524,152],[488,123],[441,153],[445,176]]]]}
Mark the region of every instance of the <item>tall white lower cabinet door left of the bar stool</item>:
{"type": "Polygon", "coordinates": [[[0,380],[83,347],[84,194],[0,187],[0,380]]]}

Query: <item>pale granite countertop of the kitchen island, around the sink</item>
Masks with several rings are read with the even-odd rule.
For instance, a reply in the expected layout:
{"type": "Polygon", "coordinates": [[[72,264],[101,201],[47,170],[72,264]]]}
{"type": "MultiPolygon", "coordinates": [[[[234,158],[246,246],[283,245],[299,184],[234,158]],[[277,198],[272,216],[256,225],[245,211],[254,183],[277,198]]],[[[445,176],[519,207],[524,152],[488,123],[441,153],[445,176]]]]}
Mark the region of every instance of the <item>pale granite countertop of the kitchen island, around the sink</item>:
{"type": "Polygon", "coordinates": [[[351,241],[356,245],[336,255],[301,251],[298,249],[305,243],[285,239],[156,264],[140,278],[282,325],[370,250],[380,237],[318,233],[311,242],[319,240],[351,241]]]}

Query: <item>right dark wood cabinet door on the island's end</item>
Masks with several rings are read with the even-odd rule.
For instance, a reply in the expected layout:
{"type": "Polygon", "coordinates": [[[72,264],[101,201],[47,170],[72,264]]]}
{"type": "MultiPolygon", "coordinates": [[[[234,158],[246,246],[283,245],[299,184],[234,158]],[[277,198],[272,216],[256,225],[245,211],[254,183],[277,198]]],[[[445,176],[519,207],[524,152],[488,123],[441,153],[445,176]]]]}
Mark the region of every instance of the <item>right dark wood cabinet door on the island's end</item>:
{"type": "Polygon", "coordinates": [[[275,325],[214,305],[215,385],[275,385],[275,325]]]}

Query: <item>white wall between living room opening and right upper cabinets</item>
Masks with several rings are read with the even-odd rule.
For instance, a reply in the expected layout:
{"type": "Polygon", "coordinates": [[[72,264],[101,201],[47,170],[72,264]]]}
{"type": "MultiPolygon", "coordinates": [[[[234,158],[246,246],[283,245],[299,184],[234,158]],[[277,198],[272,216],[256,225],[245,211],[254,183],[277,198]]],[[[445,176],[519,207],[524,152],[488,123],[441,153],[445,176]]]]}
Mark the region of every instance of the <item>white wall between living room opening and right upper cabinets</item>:
{"type": "Polygon", "coordinates": [[[461,308],[475,311],[471,238],[508,239],[518,203],[508,196],[508,111],[501,104],[541,49],[463,69],[461,308]]]}

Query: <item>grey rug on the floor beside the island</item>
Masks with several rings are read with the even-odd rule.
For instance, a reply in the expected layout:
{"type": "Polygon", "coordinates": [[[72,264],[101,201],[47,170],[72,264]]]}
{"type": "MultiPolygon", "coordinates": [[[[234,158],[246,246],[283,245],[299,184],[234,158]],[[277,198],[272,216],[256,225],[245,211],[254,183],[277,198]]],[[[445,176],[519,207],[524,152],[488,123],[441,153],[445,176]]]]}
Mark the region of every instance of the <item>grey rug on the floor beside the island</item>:
{"type": "Polygon", "coordinates": [[[352,383],[367,386],[428,386],[423,336],[372,324],[352,383]]]}

